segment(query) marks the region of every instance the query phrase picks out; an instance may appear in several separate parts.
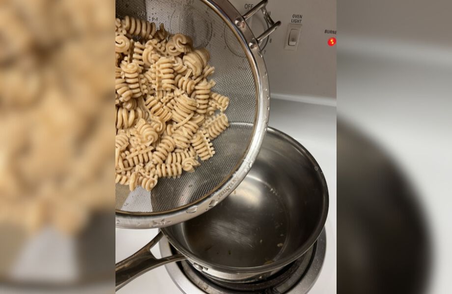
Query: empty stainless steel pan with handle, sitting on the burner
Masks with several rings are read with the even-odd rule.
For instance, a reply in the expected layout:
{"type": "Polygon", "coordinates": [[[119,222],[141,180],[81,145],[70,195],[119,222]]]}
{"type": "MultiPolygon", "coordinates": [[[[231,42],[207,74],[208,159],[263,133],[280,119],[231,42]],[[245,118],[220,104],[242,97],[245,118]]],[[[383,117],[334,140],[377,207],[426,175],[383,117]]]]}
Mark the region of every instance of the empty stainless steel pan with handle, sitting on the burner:
{"type": "Polygon", "coordinates": [[[116,289],[142,273],[187,259],[214,279],[250,282],[302,256],[317,240],[328,213],[328,189],[312,155],[269,128],[243,182],[215,208],[162,228],[149,244],[116,264],[116,289]],[[181,254],[156,259],[150,248],[165,234],[181,254]]]}

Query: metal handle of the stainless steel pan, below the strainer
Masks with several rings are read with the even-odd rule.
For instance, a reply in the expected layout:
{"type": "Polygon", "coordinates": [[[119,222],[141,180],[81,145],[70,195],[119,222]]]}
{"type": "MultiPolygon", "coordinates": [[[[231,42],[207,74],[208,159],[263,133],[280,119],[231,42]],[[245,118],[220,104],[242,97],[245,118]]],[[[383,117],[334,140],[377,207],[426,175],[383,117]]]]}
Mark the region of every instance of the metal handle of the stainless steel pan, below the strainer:
{"type": "Polygon", "coordinates": [[[146,271],[153,270],[173,261],[186,259],[186,257],[180,253],[160,259],[156,258],[152,254],[151,248],[156,245],[162,237],[163,233],[160,231],[148,244],[144,245],[133,255],[116,264],[116,291],[146,271]]]}

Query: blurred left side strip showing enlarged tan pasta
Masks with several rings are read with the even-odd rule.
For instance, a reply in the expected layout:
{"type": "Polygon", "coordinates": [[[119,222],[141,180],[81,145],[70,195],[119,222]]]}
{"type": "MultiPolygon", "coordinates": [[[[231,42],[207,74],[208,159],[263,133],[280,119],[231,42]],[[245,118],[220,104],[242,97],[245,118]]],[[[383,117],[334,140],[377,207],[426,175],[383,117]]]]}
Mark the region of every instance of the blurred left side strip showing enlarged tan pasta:
{"type": "Polygon", "coordinates": [[[112,293],[109,0],[0,1],[0,292],[112,293]]]}

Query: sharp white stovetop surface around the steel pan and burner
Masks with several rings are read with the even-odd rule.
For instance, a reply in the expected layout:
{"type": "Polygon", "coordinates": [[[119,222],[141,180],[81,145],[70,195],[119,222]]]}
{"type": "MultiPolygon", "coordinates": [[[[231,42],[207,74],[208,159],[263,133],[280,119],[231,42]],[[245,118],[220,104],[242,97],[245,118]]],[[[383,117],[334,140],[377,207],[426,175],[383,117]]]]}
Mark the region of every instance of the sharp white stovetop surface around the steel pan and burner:
{"type": "MultiPolygon", "coordinates": [[[[315,99],[312,99],[315,100],[315,99]]],[[[326,221],[327,248],[320,276],[309,294],[336,293],[336,107],[272,99],[269,125],[292,136],[317,160],[328,184],[330,207],[326,221]]],[[[116,262],[147,244],[158,229],[116,228],[116,262]]],[[[160,257],[158,245],[152,252],[160,257]]],[[[180,294],[164,266],[148,271],[119,294],[180,294]]],[[[199,291],[199,294],[203,293],[199,291]]]]}

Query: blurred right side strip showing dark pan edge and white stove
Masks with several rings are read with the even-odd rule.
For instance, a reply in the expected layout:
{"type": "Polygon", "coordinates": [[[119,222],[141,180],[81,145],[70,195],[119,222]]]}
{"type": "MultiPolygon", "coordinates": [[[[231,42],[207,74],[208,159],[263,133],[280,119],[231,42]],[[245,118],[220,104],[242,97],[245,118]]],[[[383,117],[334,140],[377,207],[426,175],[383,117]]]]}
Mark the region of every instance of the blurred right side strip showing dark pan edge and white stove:
{"type": "Polygon", "coordinates": [[[451,292],[452,1],[338,1],[338,293],[451,292]]]}

